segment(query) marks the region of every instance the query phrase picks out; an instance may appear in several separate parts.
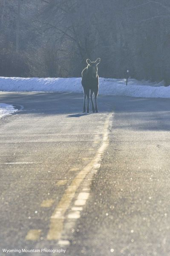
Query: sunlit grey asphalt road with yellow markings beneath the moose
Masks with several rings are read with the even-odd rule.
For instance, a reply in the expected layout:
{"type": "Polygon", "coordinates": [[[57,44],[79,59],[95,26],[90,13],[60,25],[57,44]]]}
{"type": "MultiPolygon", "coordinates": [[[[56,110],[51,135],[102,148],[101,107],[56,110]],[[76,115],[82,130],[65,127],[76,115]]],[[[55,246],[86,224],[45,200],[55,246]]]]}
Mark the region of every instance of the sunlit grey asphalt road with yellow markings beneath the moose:
{"type": "Polygon", "coordinates": [[[170,100],[82,101],[0,93],[0,255],[170,255],[170,100]]]}

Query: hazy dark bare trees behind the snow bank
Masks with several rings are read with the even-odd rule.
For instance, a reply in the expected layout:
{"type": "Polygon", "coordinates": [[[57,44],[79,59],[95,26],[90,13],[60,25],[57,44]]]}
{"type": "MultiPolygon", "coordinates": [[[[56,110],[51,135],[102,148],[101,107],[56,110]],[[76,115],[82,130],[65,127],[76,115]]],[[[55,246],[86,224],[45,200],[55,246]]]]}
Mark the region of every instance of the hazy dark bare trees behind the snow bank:
{"type": "Polygon", "coordinates": [[[81,76],[170,84],[169,0],[0,0],[0,76],[81,76]]]}

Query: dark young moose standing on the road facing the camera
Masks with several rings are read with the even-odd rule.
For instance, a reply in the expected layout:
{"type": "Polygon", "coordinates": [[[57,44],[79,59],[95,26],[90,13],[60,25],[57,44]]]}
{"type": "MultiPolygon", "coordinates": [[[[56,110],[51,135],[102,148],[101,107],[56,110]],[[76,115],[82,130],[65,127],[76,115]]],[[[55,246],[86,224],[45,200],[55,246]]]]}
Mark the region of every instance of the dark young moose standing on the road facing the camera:
{"type": "Polygon", "coordinates": [[[87,97],[87,112],[89,113],[89,94],[92,102],[92,111],[93,113],[98,113],[97,105],[97,96],[98,96],[98,64],[100,63],[100,58],[92,62],[90,59],[87,59],[87,67],[82,71],[81,84],[84,90],[84,107],[83,112],[86,112],[86,97],[87,97]],[[93,93],[95,95],[95,108],[93,104],[93,93]]]}

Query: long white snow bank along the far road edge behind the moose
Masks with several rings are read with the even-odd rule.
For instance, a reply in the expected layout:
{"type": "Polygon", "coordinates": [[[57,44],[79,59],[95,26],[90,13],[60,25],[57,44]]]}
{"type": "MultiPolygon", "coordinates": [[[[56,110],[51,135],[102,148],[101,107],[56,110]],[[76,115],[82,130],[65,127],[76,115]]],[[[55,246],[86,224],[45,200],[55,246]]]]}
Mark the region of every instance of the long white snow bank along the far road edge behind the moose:
{"type": "MultiPolygon", "coordinates": [[[[82,93],[81,78],[20,78],[0,77],[1,91],[43,91],[82,93]]],[[[170,98],[170,86],[129,79],[100,78],[99,93],[104,95],[145,98],[170,98]]]]}

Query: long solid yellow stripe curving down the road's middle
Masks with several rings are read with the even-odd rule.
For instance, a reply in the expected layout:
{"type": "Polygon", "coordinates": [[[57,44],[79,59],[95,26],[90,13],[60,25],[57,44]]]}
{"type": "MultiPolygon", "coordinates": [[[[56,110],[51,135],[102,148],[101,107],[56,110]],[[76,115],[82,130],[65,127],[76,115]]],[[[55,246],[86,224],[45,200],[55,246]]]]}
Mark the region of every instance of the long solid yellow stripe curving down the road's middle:
{"type": "Polygon", "coordinates": [[[63,232],[63,224],[64,224],[64,215],[66,211],[69,209],[72,199],[75,197],[75,193],[80,186],[81,182],[84,180],[86,175],[96,166],[100,161],[102,154],[104,153],[105,149],[109,145],[108,140],[108,127],[109,127],[109,120],[112,116],[112,113],[109,113],[107,119],[104,123],[104,131],[103,131],[103,141],[100,148],[98,148],[97,154],[88,163],[84,169],[82,169],[78,175],[72,180],[72,183],[68,186],[66,191],[64,192],[60,202],[58,203],[57,207],[55,208],[51,220],[50,220],[50,227],[49,232],[47,234],[48,240],[58,240],[61,239],[61,235],[63,232]]]}

